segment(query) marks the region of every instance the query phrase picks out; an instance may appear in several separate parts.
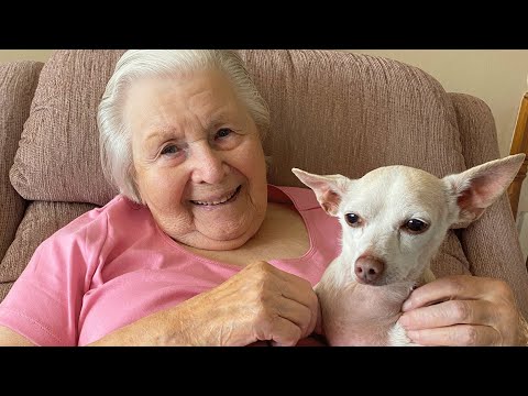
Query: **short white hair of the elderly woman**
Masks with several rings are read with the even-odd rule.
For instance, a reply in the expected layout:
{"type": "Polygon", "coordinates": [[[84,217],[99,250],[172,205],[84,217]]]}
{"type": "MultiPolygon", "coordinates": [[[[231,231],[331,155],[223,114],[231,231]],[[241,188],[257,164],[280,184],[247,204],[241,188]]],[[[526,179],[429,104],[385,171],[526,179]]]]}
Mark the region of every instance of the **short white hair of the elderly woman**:
{"type": "Polygon", "coordinates": [[[145,77],[174,76],[204,69],[222,72],[258,128],[261,139],[270,127],[270,110],[239,54],[229,50],[130,50],[116,65],[97,113],[102,170],[119,191],[141,202],[135,184],[131,133],[123,120],[129,87],[145,77]]]}

